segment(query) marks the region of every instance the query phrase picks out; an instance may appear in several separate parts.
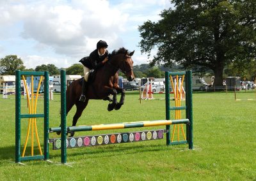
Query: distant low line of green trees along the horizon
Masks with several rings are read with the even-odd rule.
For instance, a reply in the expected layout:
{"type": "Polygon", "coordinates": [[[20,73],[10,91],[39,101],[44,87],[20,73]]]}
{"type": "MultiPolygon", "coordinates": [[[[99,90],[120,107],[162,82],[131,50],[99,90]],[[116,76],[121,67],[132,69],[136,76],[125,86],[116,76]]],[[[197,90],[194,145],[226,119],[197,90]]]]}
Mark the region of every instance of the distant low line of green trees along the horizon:
{"type": "MultiPolygon", "coordinates": [[[[6,57],[0,59],[0,75],[15,75],[15,70],[21,71],[49,71],[49,75],[60,75],[60,69],[65,69],[67,75],[82,75],[83,65],[73,64],[68,68],[57,68],[54,64],[42,64],[36,66],[35,69],[26,69],[22,59],[17,55],[6,55],[6,57]]],[[[188,69],[188,68],[187,68],[188,69]]],[[[171,68],[166,68],[164,65],[152,66],[150,64],[140,64],[133,66],[134,75],[136,78],[142,77],[154,77],[164,78],[164,71],[186,71],[186,68],[182,65],[172,64],[171,68]]],[[[196,76],[213,76],[214,72],[211,69],[204,68],[203,66],[196,66],[191,68],[193,75],[196,76]]],[[[124,76],[124,73],[119,72],[120,76],[124,76]]],[[[255,80],[256,77],[256,61],[244,62],[244,64],[228,64],[224,68],[223,77],[227,76],[240,76],[246,78],[246,80],[255,80]]]]}

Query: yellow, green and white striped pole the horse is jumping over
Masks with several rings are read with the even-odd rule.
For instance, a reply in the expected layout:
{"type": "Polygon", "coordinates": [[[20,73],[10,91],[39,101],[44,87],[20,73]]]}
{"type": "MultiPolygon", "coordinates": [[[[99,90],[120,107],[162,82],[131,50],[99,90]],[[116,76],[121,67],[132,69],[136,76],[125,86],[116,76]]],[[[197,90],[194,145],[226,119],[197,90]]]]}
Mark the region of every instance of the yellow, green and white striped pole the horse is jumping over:
{"type": "Polygon", "coordinates": [[[70,126],[67,127],[68,131],[96,131],[96,130],[107,130],[107,129],[124,129],[131,127],[149,127],[149,126],[164,126],[170,124],[186,124],[188,119],[180,120],[148,120],[143,122],[126,122],[116,124],[99,124],[93,126],[70,126]]]}

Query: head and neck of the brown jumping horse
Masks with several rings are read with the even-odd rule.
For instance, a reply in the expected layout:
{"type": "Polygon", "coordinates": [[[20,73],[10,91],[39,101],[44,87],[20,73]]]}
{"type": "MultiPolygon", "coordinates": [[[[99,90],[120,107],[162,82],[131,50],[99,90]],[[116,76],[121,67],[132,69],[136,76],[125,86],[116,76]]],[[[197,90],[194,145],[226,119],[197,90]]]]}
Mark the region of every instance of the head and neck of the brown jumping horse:
{"type": "Polygon", "coordinates": [[[112,52],[111,60],[109,60],[109,64],[114,66],[116,69],[120,69],[126,76],[127,80],[132,81],[134,79],[133,74],[133,61],[132,55],[133,52],[128,52],[125,48],[120,48],[118,51],[112,52]]]}

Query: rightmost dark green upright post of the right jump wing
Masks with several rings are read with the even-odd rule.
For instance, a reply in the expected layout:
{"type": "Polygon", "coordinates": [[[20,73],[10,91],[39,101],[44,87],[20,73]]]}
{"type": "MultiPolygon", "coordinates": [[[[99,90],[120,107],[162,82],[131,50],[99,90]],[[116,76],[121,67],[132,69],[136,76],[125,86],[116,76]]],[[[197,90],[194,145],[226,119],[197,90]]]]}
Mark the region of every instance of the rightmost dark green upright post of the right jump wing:
{"type": "Polygon", "coordinates": [[[193,104],[192,104],[192,71],[186,71],[186,118],[189,124],[186,126],[186,134],[189,149],[193,149],[193,104]]]}

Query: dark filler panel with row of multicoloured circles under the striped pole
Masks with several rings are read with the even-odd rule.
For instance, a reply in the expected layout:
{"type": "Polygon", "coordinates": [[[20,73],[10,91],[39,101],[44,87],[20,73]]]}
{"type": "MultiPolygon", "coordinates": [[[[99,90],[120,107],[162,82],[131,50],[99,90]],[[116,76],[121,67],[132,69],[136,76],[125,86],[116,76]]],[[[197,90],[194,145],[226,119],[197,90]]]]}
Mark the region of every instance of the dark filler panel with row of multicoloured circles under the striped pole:
{"type": "MultiPolygon", "coordinates": [[[[163,139],[164,129],[152,131],[137,131],[129,133],[100,134],[95,136],[79,136],[67,138],[67,148],[93,147],[99,145],[111,145],[136,141],[149,141],[163,139]]],[[[61,148],[61,138],[52,138],[50,143],[54,150],[61,148]]]]}

